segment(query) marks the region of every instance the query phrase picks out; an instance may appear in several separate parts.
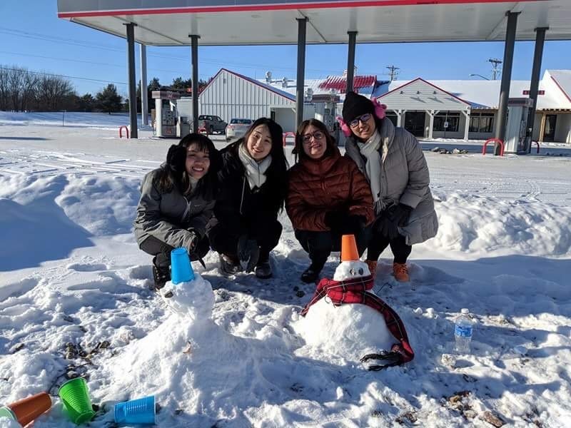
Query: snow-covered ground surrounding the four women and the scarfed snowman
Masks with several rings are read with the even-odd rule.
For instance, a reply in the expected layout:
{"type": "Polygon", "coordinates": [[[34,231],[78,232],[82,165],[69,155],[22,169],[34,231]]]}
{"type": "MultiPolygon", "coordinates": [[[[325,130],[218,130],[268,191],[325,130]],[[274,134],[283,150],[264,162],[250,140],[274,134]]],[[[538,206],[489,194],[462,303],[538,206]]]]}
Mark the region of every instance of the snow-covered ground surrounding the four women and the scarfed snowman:
{"type": "Polygon", "coordinates": [[[193,266],[214,290],[211,321],[173,313],[148,291],[131,222],[175,141],[119,139],[126,116],[66,113],[62,127],[58,114],[0,113],[0,404],[49,391],[34,427],[74,426],[55,396],[75,374],[99,406],[92,427],[148,394],[160,427],[570,426],[570,156],[425,152],[440,231],[413,248],[410,284],[388,251],[375,282],[415,360],[366,372],[296,330],[314,286],[298,280],[308,257],[285,213],[275,278],[222,277],[211,253],[193,266]],[[462,307],[470,355],[453,352],[462,307]]]}

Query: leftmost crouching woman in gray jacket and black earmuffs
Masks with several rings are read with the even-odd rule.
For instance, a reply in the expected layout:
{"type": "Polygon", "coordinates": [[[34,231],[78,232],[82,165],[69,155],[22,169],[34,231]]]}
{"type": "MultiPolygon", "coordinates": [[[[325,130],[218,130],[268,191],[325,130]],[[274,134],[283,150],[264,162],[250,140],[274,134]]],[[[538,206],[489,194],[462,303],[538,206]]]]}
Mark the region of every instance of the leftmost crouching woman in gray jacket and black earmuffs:
{"type": "Polygon", "coordinates": [[[168,149],[166,163],[151,171],[141,185],[135,218],[139,248],[153,255],[155,288],[171,280],[171,250],[183,247],[191,260],[210,248],[220,153],[210,138],[191,133],[168,149]]]}

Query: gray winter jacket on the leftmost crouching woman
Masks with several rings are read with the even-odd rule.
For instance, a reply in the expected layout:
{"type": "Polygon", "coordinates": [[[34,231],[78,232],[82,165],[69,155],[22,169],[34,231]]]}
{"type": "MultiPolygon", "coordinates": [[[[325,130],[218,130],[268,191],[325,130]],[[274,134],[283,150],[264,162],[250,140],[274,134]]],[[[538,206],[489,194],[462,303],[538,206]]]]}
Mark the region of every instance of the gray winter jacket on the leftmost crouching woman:
{"type": "Polygon", "coordinates": [[[201,195],[182,195],[176,187],[168,193],[161,193],[153,181],[158,170],[145,175],[141,185],[141,200],[133,223],[138,245],[154,236],[171,247],[189,248],[193,230],[199,238],[213,219],[215,199],[204,199],[201,195]]]}

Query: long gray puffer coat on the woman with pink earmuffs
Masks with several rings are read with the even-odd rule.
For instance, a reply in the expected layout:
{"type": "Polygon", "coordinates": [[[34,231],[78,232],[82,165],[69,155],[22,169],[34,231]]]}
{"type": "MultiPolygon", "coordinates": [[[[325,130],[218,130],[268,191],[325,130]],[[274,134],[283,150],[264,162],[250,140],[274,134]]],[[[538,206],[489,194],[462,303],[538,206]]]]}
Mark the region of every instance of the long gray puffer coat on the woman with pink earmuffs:
{"type": "MultiPolygon", "coordinates": [[[[430,175],[423,149],[416,138],[403,128],[395,128],[388,119],[380,128],[379,148],[381,165],[381,204],[383,208],[403,203],[413,208],[408,224],[399,228],[406,243],[413,245],[433,238],[438,232],[438,218],[430,193],[430,175]]],[[[345,140],[346,156],[349,156],[363,174],[365,158],[361,155],[353,136],[345,140]]],[[[369,177],[367,177],[370,180],[369,177]]]]}

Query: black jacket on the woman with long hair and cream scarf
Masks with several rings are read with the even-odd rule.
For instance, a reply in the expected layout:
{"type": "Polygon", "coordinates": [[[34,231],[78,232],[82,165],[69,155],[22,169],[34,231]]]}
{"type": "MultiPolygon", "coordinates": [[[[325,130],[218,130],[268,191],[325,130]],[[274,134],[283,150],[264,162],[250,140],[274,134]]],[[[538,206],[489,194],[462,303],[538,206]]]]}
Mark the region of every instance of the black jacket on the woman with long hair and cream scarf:
{"type": "Polygon", "coordinates": [[[221,151],[223,166],[218,173],[220,190],[216,197],[214,214],[225,228],[236,230],[238,235],[256,236],[258,230],[278,218],[287,192],[287,182],[281,178],[273,163],[266,170],[266,183],[261,188],[250,189],[246,170],[238,157],[236,141],[221,151]]]}

